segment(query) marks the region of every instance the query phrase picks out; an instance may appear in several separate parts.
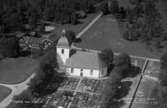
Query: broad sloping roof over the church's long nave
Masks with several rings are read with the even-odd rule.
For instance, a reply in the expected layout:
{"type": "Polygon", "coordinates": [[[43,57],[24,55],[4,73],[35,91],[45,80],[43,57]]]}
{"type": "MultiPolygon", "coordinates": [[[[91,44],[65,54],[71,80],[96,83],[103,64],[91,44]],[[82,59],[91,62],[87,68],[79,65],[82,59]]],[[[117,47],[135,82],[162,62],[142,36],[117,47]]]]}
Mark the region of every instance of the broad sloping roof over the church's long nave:
{"type": "Polygon", "coordinates": [[[106,67],[98,53],[87,51],[76,51],[75,54],[67,59],[66,66],[82,69],[101,69],[106,67]]]}

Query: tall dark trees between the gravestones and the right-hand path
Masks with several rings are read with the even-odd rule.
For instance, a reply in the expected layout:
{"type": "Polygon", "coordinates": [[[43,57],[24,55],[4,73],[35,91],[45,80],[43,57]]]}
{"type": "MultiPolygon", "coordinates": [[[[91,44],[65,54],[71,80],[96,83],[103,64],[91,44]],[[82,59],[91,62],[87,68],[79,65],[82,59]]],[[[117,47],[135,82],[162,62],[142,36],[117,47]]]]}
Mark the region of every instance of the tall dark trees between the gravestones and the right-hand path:
{"type": "Polygon", "coordinates": [[[127,70],[131,68],[129,55],[126,53],[118,55],[114,58],[113,64],[114,68],[110,70],[110,75],[102,89],[101,108],[117,108],[118,104],[121,104],[120,99],[127,95],[129,90],[129,86],[121,82],[128,74],[127,70]]]}

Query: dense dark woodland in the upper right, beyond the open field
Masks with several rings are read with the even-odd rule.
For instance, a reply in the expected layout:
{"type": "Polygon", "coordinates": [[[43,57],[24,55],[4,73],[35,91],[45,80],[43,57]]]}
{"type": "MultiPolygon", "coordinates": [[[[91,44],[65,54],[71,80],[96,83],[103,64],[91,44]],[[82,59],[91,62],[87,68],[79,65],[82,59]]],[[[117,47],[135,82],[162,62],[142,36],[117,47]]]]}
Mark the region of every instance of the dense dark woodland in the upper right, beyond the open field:
{"type": "Polygon", "coordinates": [[[133,7],[126,7],[123,37],[130,41],[140,40],[156,49],[162,48],[165,29],[157,8],[158,0],[130,0],[130,3],[133,7]]]}

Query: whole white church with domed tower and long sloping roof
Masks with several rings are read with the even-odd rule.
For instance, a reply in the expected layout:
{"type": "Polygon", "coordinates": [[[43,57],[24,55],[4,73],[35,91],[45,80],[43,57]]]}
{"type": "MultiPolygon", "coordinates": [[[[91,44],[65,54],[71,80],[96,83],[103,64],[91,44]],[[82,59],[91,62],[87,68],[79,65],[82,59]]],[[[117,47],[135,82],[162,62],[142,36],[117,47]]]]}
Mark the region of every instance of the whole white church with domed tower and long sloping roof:
{"type": "Polygon", "coordinates": [[[66,73],[72,76],[101,78],[107,74],[107,66],[99,53],[72,48],[63,30],[56,46],[58,59],[66,73]]]}

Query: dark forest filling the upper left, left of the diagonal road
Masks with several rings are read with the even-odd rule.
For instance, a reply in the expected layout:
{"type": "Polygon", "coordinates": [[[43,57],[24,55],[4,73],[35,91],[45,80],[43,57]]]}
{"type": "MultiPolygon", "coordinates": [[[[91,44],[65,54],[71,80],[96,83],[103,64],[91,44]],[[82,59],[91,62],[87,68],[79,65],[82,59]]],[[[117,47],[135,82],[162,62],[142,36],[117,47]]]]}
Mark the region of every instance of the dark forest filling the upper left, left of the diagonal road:
{"type": "Polygon", "coordinates": [[[24,29],[25,24],[35,28],[41,20],[56,23],[77,23],[77,11],[94,12],[99,0],[1,0],[0,32],[24,29]]]}

